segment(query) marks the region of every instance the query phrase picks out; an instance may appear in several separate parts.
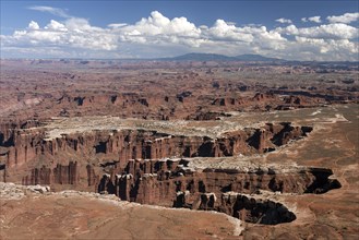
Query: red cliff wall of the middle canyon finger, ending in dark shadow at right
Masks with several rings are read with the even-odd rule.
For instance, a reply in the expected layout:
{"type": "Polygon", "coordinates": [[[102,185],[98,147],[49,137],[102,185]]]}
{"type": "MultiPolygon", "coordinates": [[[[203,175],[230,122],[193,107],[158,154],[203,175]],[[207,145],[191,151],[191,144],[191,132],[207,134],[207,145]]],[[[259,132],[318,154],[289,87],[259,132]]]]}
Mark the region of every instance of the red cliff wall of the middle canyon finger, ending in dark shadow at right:
{"type": "Polygon", "coordinates": [[[226,192],[255,193],[259,190],[282,193],[323,193],[340,188],[328,177],[330,169],[307,169],[290,172],[274,170],[241,171],[237,169],[188,169],[184,159],[130,160],[125,168],[116,168],[103,176],[98,191],[122,200],[164,206],[191,207],[204,193],[219,196],[226,192]],[[180,194],[179,194],[180,193],[180,194]],[[181,195],[186,193],[186,197],[181,195]]]}

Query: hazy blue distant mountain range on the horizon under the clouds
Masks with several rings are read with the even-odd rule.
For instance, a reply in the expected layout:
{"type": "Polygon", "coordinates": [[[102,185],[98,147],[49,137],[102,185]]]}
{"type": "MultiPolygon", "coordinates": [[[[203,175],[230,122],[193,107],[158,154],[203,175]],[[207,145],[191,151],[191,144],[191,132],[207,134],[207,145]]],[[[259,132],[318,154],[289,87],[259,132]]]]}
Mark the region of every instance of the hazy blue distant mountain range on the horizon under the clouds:
{"type": "Polygon", "coordinates": [[[158,60],[163,61],[285,61],[277,58],[266,58],[261,55],[240,55],[237,57],[228,57],[225,55],[216,55],[216,53],[187,53],[173,58],[160,58],[158,60]]]}

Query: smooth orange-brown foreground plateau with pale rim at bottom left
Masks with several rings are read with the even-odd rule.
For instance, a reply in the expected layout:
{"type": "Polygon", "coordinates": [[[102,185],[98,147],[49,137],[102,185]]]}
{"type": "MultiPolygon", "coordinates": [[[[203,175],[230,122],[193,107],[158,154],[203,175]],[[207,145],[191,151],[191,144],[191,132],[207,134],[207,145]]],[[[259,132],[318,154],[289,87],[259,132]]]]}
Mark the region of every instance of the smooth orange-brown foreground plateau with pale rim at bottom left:
{"type": "Polygon", "coordinates": [[[1,239],[235,238],[237,219],[225,214],[119,202],[74,191],[39,194],[13,185],[2,191],[1,239]],[[13,200],[4,200],[9,191],[13,200]],[[14,193],[16,192],[16,193],[14,193]],[[25,192],[22,199],[16,194],[25,192]]]}

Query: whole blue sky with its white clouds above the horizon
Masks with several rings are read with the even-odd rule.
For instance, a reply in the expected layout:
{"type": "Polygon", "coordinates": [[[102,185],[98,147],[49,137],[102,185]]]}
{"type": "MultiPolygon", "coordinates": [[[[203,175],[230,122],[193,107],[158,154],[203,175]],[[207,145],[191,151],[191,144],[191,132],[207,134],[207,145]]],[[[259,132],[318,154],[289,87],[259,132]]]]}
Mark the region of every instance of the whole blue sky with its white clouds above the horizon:
{"type": "Polygon", "coordinates": [[[203,52],[359,61],[358,0],[0,3],[1,58],[161,58],[203,52]]]}

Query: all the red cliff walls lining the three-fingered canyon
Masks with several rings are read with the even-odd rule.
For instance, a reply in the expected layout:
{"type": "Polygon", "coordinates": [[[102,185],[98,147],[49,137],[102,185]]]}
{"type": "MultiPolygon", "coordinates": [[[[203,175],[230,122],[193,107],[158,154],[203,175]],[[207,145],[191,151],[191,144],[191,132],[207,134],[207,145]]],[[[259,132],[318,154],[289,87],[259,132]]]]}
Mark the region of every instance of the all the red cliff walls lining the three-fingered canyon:
{"type": "MultiPolygon", "coordinates": [[[[263,97],[258,96],[259,100],[263,97]]],[[[85,99],[76,100],[86,104],[85,99]]],[[[141,104],[151,103],[142,100],[141,104]]],[[[272,202],[227,195],[231,192],[252,194],[260,190],[324,193],[340,188],[338,181],[328,178],[333,173],[330,169],[282,171],[270,168],[194,169],[189,166],[188,159],[195,157],[232,157],[274,151],[312,131],[311,127],[294,127],[290,122],[247,128],[216,139],[141,129],[94,130],[49,137],[45,129],[29,128],[36,124],[12,125],[13,129],[2,133],[1,139],[4,169],[29,167],[29,173],[21,179],[25,185],[85,187],[86,190],[116,194],[124,201],[214,209],[262,224],[291,221],[295,216],[272,202]]]]}

